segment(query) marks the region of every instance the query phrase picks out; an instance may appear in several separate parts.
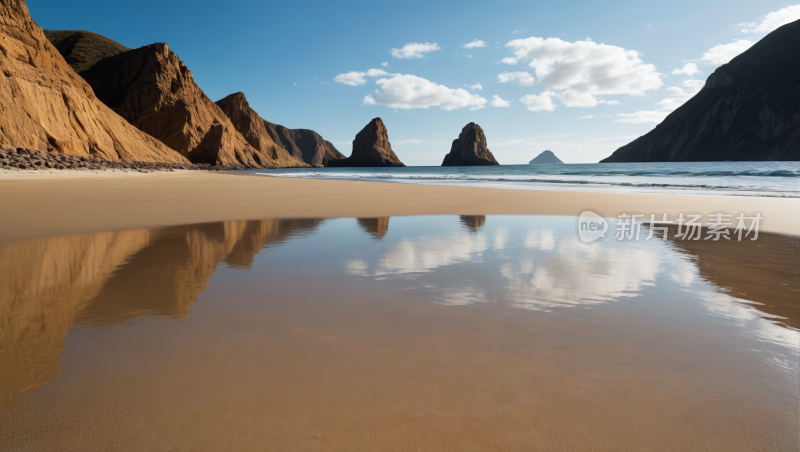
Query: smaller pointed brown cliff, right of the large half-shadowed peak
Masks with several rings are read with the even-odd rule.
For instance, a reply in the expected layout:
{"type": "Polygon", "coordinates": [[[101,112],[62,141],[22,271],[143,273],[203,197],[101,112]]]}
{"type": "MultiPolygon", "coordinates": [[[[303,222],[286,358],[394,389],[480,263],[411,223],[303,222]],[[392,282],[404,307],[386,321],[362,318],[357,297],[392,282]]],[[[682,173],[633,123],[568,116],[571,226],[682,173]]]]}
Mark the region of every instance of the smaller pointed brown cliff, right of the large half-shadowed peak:
{"type": "Polygon", "coordinates": [[[257,151],[271,158],[280,167],[305,167],[302,154],[290,154],[270,135],[268,125],[272,125],[258,115],[247,102],[244,93],[235,93],[217,101],[225,116],[233,126],[257,151]]]}

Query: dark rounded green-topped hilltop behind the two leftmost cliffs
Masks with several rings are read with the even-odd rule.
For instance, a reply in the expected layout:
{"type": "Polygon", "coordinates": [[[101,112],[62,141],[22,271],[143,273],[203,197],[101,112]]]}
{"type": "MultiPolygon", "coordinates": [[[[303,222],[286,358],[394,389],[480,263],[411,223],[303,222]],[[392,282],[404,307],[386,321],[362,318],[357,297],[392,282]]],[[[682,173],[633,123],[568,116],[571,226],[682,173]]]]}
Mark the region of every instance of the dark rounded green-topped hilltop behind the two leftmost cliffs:
{"type": "Polygon", "coordinates": [[[98,62],[130,50],[105,36],[83,30],[42,30],[79,75],[98,62]]]}

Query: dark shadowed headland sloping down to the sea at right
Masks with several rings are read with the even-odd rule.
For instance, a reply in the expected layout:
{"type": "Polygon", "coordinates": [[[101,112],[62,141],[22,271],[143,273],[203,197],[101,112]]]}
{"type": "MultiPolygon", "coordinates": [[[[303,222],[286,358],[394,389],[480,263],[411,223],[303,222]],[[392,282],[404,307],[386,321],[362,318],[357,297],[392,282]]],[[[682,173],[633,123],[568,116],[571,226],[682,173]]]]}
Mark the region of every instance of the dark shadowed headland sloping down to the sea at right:
{"type": "Polygon", "coordinates": [[[768,34],[603,162],[800,160],[798,42],[800,21],[768,34]]]}

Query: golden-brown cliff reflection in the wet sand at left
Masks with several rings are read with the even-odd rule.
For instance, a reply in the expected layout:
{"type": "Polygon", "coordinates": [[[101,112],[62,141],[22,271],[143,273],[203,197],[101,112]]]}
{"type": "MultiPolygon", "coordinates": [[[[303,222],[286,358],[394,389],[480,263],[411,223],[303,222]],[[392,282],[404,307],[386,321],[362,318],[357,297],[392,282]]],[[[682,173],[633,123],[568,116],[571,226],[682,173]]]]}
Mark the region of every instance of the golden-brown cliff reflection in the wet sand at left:
{"type": "Polygon", "coordinates": [[[262,248],[320,222],[229,221],[0,245],[0,411],[55,375],[71,328],[185,316],[220,262],[249,268],[262,248]]]}

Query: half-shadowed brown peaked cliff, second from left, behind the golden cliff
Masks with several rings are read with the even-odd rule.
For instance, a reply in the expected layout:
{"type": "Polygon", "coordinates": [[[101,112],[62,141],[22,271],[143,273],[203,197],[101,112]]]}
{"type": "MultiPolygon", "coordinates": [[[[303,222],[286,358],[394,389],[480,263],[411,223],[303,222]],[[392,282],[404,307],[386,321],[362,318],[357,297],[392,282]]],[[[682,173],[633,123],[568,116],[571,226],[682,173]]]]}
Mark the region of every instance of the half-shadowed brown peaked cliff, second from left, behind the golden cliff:
{"type": "Polygon", "coordinates": [[[244,139],[165,43],[107,58],[82,75],[106,105],[193,163],[275,166],[244,139]]]}

